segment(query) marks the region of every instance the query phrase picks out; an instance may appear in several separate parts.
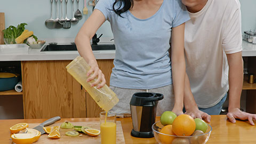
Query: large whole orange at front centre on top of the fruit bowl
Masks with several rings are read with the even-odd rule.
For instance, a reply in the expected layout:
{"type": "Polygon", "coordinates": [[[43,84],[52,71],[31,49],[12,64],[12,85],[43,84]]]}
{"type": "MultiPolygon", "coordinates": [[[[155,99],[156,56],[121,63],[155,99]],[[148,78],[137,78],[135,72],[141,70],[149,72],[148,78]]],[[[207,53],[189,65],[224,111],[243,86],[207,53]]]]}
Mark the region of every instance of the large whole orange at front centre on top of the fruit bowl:
{"type": "Polygon", "coordinates": [[[172,130],[176,135],[189,136],[193,134],[196,129],[194,119],[189,115],[179,115],[172,123],[172,130]]]}

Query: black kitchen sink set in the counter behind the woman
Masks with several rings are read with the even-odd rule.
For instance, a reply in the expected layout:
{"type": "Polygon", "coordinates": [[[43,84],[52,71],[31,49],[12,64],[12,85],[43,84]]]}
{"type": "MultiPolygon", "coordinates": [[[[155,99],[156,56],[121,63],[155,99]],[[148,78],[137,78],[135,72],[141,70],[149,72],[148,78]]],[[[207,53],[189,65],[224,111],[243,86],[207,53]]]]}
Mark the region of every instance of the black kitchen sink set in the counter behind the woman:
{"type": "MultiPolygon", "coordinates": [[[[115,50],[114,44],[91,45],[93,51],[115,50]]],[[[75,44],[44,45],[41,52],[45,51],[77,51],[75,44]]]]}

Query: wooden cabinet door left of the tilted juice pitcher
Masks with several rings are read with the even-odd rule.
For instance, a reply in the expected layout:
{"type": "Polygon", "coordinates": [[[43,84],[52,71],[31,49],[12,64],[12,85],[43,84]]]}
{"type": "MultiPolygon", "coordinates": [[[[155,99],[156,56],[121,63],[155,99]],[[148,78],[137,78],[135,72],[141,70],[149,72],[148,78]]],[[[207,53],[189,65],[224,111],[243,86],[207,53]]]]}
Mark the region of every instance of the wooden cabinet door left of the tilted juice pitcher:
{"type": "Polygon", "coordinates": [[[69,62],[22,62],[25,118],[86,117],[86,93],[67,73],[69,62]]]}

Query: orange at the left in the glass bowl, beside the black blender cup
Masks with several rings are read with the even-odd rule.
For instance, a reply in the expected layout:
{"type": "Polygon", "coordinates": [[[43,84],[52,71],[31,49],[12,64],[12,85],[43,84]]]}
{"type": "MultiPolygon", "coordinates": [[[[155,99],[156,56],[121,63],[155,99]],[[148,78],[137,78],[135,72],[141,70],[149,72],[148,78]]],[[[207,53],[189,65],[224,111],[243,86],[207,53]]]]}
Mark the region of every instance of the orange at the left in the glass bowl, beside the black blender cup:
{"type": "Polygon", "coordinates": [[[172,131],[172,125],[165,125],[161,131],[161,133],[164,134],[169,134],[169,135],[164,135],[159,133],[159,140],[161,140],[161,143],[172,143],[172,140],[175,138],[173,136],[170,135],[175,135],[175,133],[172,131]]]}

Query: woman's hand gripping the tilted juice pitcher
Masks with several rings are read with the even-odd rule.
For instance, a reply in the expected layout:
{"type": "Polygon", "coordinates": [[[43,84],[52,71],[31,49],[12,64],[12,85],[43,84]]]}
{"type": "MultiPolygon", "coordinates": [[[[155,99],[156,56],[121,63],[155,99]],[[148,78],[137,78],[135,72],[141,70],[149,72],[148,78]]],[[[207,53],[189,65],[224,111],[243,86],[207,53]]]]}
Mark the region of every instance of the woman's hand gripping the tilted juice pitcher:
{"type": "Polygon", "coordinates": [[[88,64],[91,67],[91,69],[86,74],[86,76],[88,77],[87,82],[90,82],[93,79],[95,79],[95,81],[91,83],[91,86],[97,85],[97,89],[100,89],[106,84],[105,76],[100,70],[97,62],[90,61],[88,64]]]}

